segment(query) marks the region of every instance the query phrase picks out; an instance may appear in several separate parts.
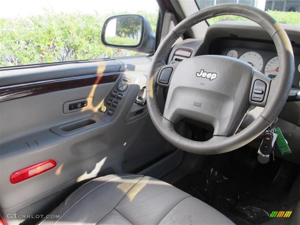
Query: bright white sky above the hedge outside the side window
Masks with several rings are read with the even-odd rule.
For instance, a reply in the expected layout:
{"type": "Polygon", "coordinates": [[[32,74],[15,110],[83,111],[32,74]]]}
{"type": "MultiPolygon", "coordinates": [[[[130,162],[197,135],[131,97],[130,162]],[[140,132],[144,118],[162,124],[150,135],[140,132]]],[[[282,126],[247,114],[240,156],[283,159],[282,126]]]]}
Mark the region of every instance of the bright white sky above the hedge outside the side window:
{"type": "Polygon", "coordinates": [[[109,12],[128,11],[136,13],[139,10],[155,12],[158,4],[155,0],[2,0],[0,3],[0,18],[26,17],[43,14],[44,10],[52,9],[57,13],[82,13],[106,14],[109,12]]]}

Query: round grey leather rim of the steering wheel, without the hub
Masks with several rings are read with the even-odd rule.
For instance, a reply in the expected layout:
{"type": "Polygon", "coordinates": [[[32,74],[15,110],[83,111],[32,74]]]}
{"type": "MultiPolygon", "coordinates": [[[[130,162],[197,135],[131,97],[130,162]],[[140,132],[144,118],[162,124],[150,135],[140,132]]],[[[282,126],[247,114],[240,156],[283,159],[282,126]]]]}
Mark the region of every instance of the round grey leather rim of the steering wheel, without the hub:
{"type": "MultiPolygon", "coordinates": [[[[183,61],[184,62],[184,61],[183,61]]],[[[153,124],[159,133],[171,144],[187,152],[213,155],[238,149],[258,137],[277,118],[288,98],[294,75],[294,56],[291,43],[284,29],[270,15],[255,7],[244,4],[218,4],[193,13],[180,22],[162,41],[149,69],[147,78],[147,106],[153,124]],[[157,104],[157,78],[164,60],[175,41],[187,29],[197,23],[220,15],[242,16],[259,24],[271,36],[276,46],[279,58],[279,75],[271,81],[269,94],[262,113],[247,127],[232,136],[214,135],[210,140],[199,142],[189,140],[176,133],[174,123],[166,119],[160,112],[157,104]]],[[[186,76],[189,74],[188,68],[186,76]]],[[[173,76],[173,75],[172,75],[173,76]]],[[[188,77],[186,78],[188,79],[188,77]]],[[[172,84],[172,77],[170,79],[172,84]]]]}

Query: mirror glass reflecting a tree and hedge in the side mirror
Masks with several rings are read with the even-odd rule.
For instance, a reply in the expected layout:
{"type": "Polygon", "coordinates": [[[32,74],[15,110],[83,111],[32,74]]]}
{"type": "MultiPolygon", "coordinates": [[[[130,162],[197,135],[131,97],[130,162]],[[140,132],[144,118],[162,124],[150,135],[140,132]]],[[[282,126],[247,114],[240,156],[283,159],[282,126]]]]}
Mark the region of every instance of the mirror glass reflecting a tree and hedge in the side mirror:
{"type": "Polygon", "coordinates": [[[136,46],[140,43],[142,20],[137,16],[126,16],[111,19],[105,29],[107,44],[136,46]]]}

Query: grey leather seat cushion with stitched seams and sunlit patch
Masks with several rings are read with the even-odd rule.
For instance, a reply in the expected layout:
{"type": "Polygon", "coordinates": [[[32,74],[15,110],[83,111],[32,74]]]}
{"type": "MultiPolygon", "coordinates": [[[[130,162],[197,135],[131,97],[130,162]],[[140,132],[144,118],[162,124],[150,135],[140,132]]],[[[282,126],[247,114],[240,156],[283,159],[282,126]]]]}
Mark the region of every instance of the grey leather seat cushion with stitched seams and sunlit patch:
{"type": "Polygon", "coordinates": [[[234,224],[223,214],[160,180],[132,174],[94,179],[40,224],[234,224]]]}

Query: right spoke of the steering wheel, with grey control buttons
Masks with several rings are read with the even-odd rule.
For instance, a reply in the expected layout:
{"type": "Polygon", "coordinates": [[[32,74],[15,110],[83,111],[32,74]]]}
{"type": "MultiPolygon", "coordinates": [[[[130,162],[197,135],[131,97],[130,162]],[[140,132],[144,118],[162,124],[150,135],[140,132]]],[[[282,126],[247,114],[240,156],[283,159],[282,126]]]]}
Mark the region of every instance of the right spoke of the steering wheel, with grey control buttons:
{"type": "Polygon", "coordinates": [[[253,106],[265,107],[268,99],[272,79],[254,70],[249,95],[249,103],[253,106]]]}

